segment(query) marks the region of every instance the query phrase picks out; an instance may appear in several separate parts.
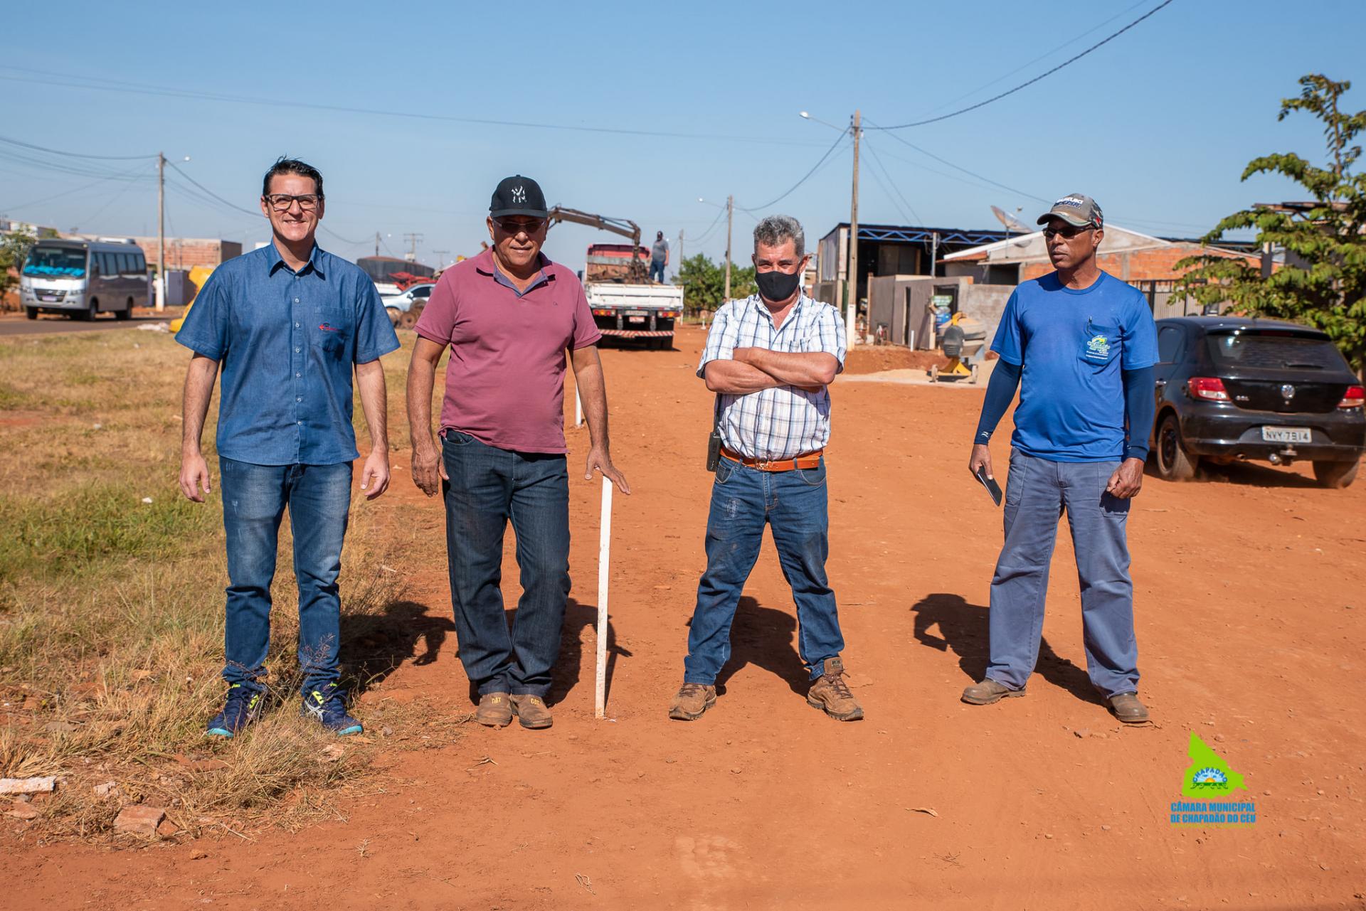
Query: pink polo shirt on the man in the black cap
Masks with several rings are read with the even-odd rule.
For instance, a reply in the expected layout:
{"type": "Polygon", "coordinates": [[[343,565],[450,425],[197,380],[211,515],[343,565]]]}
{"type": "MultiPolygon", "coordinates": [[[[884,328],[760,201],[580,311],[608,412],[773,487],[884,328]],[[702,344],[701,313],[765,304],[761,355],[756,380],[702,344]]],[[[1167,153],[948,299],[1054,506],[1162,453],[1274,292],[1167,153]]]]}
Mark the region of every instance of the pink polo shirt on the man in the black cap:
{"type": "Polygon", "coordinates": [[[564,445],[564,352],[597,344],[583,285],[541,254],[541,275],[518,294],[493,251],[441,273],[417,332],[451,346],[441,430],[518,452],[564,445]]]}

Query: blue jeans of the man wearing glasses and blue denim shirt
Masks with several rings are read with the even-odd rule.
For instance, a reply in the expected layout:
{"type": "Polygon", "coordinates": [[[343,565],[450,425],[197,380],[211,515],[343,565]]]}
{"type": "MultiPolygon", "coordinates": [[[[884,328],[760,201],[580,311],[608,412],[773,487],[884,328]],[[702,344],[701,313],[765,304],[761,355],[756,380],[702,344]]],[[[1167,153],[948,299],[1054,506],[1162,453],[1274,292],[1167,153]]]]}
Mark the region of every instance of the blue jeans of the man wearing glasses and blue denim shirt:
{"type": "Polygon", "coordinates": [[[270,647],[270,582],[288,505],[303,692],[335,683],[342,641],[337,574],[351,511],[351,463],[251,464],[220,456],[219,470],[229,582],[223,679],[262,688],[270,647]]]}

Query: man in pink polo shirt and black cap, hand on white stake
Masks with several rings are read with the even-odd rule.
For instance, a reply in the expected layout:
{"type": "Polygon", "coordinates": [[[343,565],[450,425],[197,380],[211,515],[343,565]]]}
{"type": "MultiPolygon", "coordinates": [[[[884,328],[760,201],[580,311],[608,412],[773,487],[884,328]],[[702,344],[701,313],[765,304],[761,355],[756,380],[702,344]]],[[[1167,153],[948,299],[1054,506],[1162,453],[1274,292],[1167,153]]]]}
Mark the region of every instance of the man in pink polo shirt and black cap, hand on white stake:
{"type": "Polygon", "coordinates": [[[493,249],[441,275],[418,320],[408,365],[413,481],[445,497],[451,605],[464,673],[478,687],[479,724],[550,727],[545,695],[560,653],[570,594],[570,475],[564,444],[568,351],[594,468],[630,493],[608,455],[602,333],[583,285],[542,253],[541,187],[520,175],[493,191],[493,249]],[[432,385],[447,346],[441,445],[432,434],[432,385]],[[511,630],[499,587],[503,534],[516,533],[522,598],[511,630]]]}

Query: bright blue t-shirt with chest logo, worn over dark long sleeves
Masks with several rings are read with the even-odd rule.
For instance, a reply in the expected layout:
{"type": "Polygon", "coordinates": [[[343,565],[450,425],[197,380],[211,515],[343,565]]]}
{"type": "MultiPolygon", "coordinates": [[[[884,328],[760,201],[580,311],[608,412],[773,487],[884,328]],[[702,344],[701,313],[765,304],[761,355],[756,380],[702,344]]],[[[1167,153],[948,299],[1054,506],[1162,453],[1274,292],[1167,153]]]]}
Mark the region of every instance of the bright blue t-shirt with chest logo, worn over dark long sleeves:
{"type": "Polygon", "coordinates": [[[1015,288],[992,351],[1020,365],[1011,443],[1050,462],[1124,458],[1121,370],[1157,363],[1157,326],[1138,288],[1101,272],[1075,291],[1057,273],[1015,288]]]}

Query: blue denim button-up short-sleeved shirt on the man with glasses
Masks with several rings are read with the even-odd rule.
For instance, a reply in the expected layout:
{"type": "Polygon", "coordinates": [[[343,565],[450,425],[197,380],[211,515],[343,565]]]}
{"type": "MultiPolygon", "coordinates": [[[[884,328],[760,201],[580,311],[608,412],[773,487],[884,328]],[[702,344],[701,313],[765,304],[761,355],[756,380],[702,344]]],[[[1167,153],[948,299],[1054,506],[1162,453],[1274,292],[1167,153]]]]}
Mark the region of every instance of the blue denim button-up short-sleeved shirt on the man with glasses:
{"type": "Polygon", "coordinates": [[[254,464],[357,458],[354,365],[399,347],[374,283],[314,246],[298,272],[275,243],[209,276],[176,333],[219,361],[219,455],[254,464]]]}

